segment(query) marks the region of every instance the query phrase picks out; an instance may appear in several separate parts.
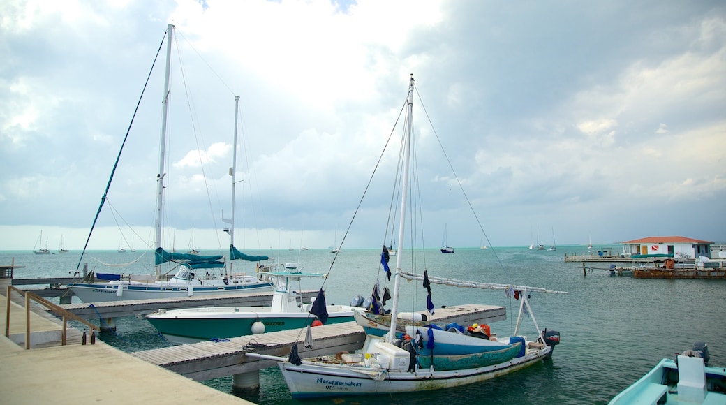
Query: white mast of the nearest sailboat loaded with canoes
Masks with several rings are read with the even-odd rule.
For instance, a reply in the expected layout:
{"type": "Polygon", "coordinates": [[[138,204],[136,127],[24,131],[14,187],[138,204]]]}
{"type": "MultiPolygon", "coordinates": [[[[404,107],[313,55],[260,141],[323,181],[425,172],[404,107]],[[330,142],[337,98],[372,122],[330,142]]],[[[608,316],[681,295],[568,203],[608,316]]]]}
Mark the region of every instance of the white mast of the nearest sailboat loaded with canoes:
{"type": "Polygon", "coordinates": [[[388,332],[388,341],[393,342],[396,340],[396,314],[399,309],[399,284],[401,277],[401,266],[403,264],[403,255],[401,254],[402,247],[404,246],[404,234],[406,225],[406,202],[408,198],[408,186],[409,186],[409,156],[411,150],[411,135],[413,128],[413,74],[411,75],[411,81],[409,82],[409,95],[408,95],[408,133],[404,136],[404,173],[403,179],[401,180],[401,213],[399,216],[399,252],[396,254],[396,273],[393,274],[393,303],[391,304],[391,331],[388,332]]]}

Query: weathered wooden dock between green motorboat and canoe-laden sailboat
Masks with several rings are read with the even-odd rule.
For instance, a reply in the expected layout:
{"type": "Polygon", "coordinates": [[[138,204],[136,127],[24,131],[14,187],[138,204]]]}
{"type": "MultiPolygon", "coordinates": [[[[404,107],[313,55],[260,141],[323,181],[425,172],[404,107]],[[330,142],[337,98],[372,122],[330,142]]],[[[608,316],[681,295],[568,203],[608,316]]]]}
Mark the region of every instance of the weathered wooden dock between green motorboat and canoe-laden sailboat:
{"type": "MultiPolygon", "coordinates": [[[[480,324],[507,318],[506,308],[466,304],[437,308],[431,322],[480,324]]],[[[340,351],[354,352],[363,347],[365,334],[355,322],[343,322],[311,328],[313,347],[305,348],[305,331],[285,330],[233,337],[229,340],[200,342],[131,353],[132,356],[197,381],[229,375],[257,372],[274,367],[277,362],[245,356],[248,351],[270,356],[287,356],[293,343],[298,343],[301,357],[325,356],[340,351]]]]}

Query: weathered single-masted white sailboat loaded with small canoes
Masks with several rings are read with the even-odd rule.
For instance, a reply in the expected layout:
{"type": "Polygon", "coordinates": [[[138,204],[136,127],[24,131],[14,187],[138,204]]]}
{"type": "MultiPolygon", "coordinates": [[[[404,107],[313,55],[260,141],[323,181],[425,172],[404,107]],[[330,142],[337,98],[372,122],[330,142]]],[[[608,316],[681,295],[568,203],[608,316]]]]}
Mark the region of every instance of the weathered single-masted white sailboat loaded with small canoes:
{"type": "MultiPolygon", "coordinates": [[[[407,199],[409,185],[410,145],[413,143],[412,131],[412,98],[414,80],[411,76],[407,97],[408,118],[401,120],[407,123],[403,139],[403,172],[401,180],[401,216],[399,217],[399,246],[404,243],[407,199]]],[[[386,252],[381,253],[380,263],[388,274],[390,269],[384,264],[386,252]]],[[[529,305],[528,295],[534,291],[531,287],[513,285],[486,285],[484,283],[462,282],[459,280],[428,277],[402,271],[404,254],[396,256],[396,271],[393,274],[393,298],[389,330],[383,336],[367,333],[360,353],[338,356],[318,356],[311,359],[300,359],[296,346],[288,358],[247,353],[247,356],[280,361],[278,367],[282,371],[287,387],[294,399],[318,398],[321,396],[348,396],[362,394],[406,393],[441,388],[454,388],[473,382],[488,380],[509,372],[514,372],[531,364],[537,364],[552,353],[552,348],[559,342],[559,334],[554,331],[545,332],[537,327],[529,305]],[[513,337],[503,341],[502,338],[490,340],[472,335],[458,333],[455,330],[439,330],[433,325],[419,327],[408,324],[405,326],[406,336],[399,334],[399,288],[401,279],[423,281],[429,289],[427,309],[433,311],[431,303],[431,283],[457,285],[459,287],[494,288],[501,290],[515,289],[520,300],[520,316],[513,337]],[[527,312],[537,327],[537,339],[528,341],[518,336],[518,328],[523,320],[523,312],[527,312]],[[549,339],[547,339],[549,336],[549,339]],[[402,338],[401,338],[402,337],[402,338]],[[417,343],[420,342],[420,343],[417,343]]],[[[544,290],[544,289],[537,289],[544,290]]],[[[375,291],[375,290],[374,290],[375,291]]],[[[374,294],[375,296],[375,294],[374,294]]],[[[385,296],[385,294],[384,294],[385,296]]],[[[365,305],[364,305],[365,306],[365,305]]],[[[379,308],[380,309],[380,308],[379,308]]],[[[356,316],[361,310],[356,311],[356,316]]]]}

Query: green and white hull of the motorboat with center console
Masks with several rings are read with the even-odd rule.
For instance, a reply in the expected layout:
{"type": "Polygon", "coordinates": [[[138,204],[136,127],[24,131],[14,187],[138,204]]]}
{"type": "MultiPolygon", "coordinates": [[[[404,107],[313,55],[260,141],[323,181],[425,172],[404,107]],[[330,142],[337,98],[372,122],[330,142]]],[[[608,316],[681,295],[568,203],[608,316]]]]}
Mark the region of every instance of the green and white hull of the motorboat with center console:
{"type": "MultiPolygon", "coordinates": [[[[326,324],[353,321],[352,308],[327,306],[327,311],[326,324]]],[[[217,307],[160,311],[146,319],[169,343],[181,345],[254,335],[253,324],[257,321],[264,324],[261,332],[300,329],[310,325],[317,317],[307,312],[272,313],[269,307],[217,307]],[[176,316],[177,313],[184,316],[176,316]]]]}

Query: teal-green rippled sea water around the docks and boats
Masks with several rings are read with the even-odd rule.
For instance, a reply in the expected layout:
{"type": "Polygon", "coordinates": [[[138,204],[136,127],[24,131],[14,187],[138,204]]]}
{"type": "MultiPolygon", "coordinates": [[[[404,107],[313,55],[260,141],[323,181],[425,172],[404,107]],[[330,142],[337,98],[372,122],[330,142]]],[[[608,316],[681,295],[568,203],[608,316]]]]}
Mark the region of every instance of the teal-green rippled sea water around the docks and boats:
{"type": "MultiPolygon", "coordinates": [[[[619,245],[595,249],[620,250],[619,245]]],[[[557,250],[529,250],[527,247],[457,248],[454,254],[438,249],[404,258],[406,271],[438,277],[507,285],[542,287],[566,294],[531,292],[530,303],[539,327],[560,332],[561,343],[552,359],[528,369],[460,388],[406,394],[382,394],[293,400],[277,367],[264,369],[258,393],[232,390],[232,377],[203,382],[230,395],[256,404],[607,404],[624,388],[648,372],[663,358],[693,348],[696,342],[709,347],[711,365],[726,365],[726,281],[697,279],[633,279],[611,276],[609,271],[583,272],[582,263],[566,263],[565,254],[584,254],[585,246],[558,246],[557,250]]],[[[202,254],[219,252],[203,250],[202,254]]],[[[380,249],[340,250],[252,250],[279,263],[295,262],[303,271],[328,273],[301,285],[305,290],[325,290],[327,303],[349,304],[356,295],[369,296],[378,280],[393,289],[380,268],[380,249]]],[[[31,251],[2,251],[0,264],[15,259],[16,278],[68,277],[77,269],[80,251],[34,255],[31,251]]],[[[113,251],[87,252],[82,263],[101,272],[151,273],[152,253],[113,251]],[[131,263],[128,267],[109,264],[131,263]]],[[[396,257],[391,258],[391,269],[396,257]]],[[[254,264],[234,263],[234,271],[255,271],[254,264]]],[[[510,335],[519,301],[497,290],[472,290],[433,285],[436,308],[466,303],[504,306],[507,320],[490,324],[492,332],[510,335]]],[[[425,309],[425,289],[420,282],[403,282],[401,309],[425,309]]],[[[77,298],[73,298],[74,303],[77,298]]],[[[56,298],[57,300],[57,298],[56,298]]],[[[390,307],[390,303],[388,306],[390,307]]],[[[100,340],[126,352],[160,348],[166,340],[143,318],[118,319],[115,333],[103,333],[100,340]]],[[[534,336],[529,317],[521,335],[534,336]]]]}

